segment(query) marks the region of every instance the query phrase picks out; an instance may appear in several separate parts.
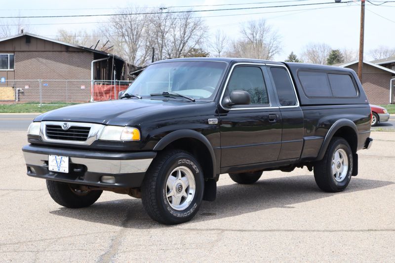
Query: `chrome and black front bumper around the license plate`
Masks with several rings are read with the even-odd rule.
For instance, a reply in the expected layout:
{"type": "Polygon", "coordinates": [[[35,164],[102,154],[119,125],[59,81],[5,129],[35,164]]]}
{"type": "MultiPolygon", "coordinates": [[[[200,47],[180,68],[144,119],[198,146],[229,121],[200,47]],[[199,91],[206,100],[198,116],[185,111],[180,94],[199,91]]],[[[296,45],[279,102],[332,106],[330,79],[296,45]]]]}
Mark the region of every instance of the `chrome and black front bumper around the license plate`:
{"type": "Polygon", "coordinates": [[[137,188],[156,156],[154,151],[106,152],[26,145],[27,175],[63,183],[109,188],[137,188]],[[69,156],[69,173],[48,170],[48,155],[69,156]],[[112,176],[111,183],[103,176],[112,176]],[[106,180],[104,180],[106,181],[106,180]]]}

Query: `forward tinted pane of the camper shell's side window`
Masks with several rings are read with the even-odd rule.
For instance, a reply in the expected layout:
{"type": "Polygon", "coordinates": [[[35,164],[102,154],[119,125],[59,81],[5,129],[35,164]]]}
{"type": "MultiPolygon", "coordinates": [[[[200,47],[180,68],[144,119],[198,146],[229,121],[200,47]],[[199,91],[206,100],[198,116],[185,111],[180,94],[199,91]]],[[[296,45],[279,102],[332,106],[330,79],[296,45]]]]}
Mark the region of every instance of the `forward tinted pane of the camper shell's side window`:
{"type": "Polygon", "coordinates": [[[328,76],[324,72],[300,71],[299,80],[309,97],[332,97],[328,76]]]}

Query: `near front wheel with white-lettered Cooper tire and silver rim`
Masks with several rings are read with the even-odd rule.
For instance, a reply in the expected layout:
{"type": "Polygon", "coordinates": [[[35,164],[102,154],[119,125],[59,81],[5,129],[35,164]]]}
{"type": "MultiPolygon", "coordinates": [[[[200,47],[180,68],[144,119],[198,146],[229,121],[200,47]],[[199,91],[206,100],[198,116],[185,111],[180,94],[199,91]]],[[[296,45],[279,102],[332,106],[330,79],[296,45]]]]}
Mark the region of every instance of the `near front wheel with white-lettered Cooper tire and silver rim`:
{"type": "Polygon", "coordinates": [[[159,153],[141,186],[145,211],[166,225],[191,220],[200,207],[203,190],[203,171],[197,160],[183,150],[159,153]]]}

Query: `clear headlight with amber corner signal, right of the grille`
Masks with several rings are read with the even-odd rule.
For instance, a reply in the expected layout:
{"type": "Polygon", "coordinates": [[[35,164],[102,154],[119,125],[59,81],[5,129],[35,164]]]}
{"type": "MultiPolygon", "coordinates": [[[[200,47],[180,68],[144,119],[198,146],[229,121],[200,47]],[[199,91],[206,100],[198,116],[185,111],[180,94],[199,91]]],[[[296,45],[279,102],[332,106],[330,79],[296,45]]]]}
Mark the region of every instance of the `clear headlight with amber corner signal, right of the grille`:
{"type": "Polygon", "coordinates": [[[132,127],[106,126],[99,136],[105,141],[139,141],[140,131],[132,127]]]}

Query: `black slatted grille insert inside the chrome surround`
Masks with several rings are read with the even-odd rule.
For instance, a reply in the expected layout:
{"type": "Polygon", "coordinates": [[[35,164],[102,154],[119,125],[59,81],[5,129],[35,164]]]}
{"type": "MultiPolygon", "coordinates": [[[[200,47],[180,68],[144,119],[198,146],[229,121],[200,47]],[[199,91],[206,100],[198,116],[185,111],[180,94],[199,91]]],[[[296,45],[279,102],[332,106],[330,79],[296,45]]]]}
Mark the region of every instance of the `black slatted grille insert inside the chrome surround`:
{"type": "Polygon", "coordinates": [[[90,127],[70,126],[67,130],[60,125],[46,125],[46,136],[54,140],[66,141],[86,141],[88,139],[90,127]]]}

